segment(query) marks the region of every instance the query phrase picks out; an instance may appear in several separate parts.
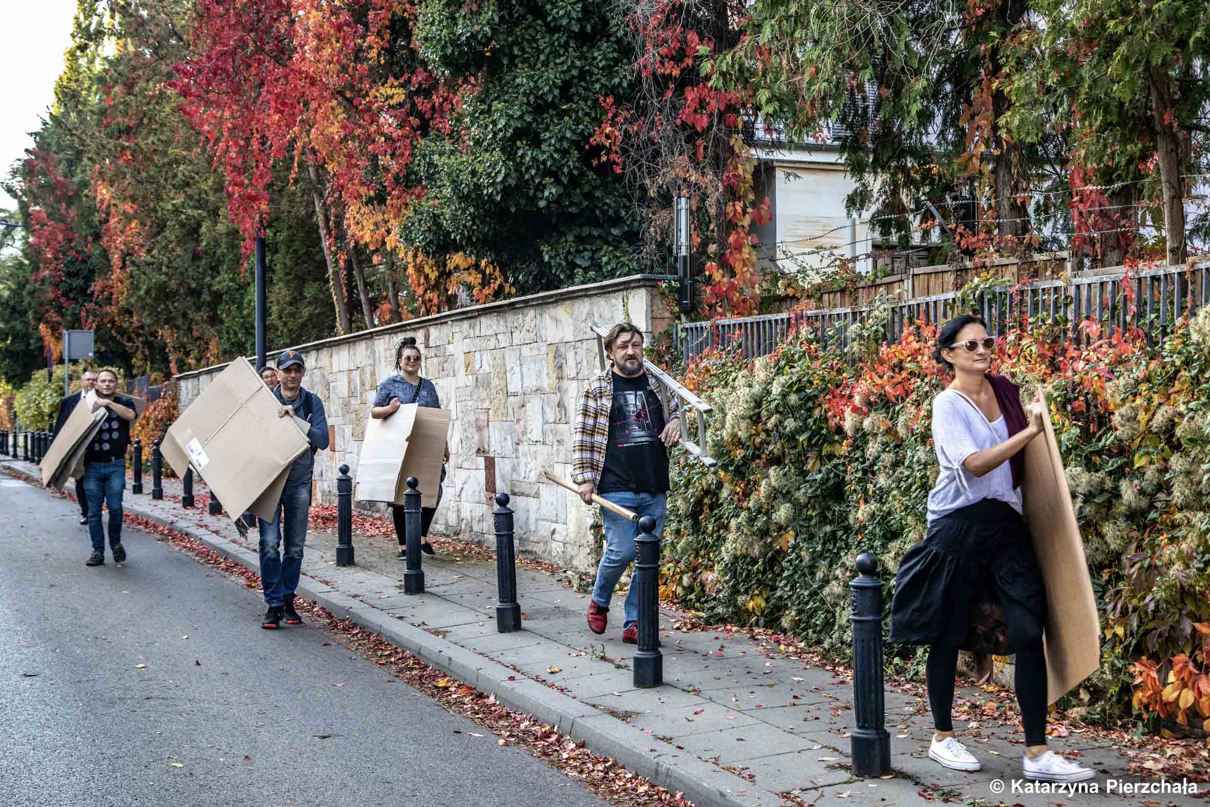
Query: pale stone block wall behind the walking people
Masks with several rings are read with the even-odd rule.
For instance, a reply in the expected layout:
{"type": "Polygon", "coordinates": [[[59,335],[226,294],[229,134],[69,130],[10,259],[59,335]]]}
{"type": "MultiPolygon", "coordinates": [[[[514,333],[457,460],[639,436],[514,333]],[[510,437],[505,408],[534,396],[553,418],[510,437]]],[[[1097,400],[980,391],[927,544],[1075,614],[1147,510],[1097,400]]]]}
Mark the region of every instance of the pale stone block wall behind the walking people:
{"type": "MultiPolygon", "coordinates": [[[[424,356],[421,374],[432,379],[453,415],[450,462],[433,531],[494,546],[492,498],[507,492],[518,552],[587,570],[595,557],[589,509],[574,494],[544,482],[542,472],[571,477],[577,402],[600,371],[588,323],[595,319],[607,328],[628,317],[650,342],[673,322],[657,286],[661,279],[640,275],[605,281],[294,347],[307,364],[302,386],[323,399],[332,436],[329,450],[316,455],[313,501],[336,502],[342,463],[357,478],[374,391],[396,371],[399,340],[415,336],[424,356]]],[[[178,375],[182,408],[224,367],[178,375]]],[[[361,512],[386,509],[370,502],[355,506],[361,512]]]]}

